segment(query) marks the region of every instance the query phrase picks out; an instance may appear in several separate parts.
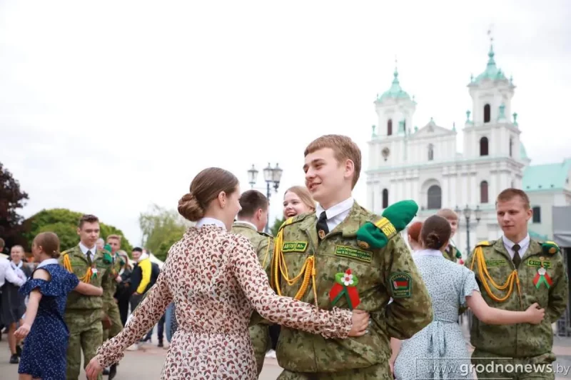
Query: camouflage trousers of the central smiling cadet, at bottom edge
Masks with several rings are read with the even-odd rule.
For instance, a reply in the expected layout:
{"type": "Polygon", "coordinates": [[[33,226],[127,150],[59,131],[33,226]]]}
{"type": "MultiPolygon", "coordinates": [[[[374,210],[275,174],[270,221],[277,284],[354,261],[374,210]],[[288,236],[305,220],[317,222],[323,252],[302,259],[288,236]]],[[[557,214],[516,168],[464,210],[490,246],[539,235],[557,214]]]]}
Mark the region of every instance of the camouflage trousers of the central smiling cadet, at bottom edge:
{"type": "MultiPolygon", "coordinates": [[[[301,373],[284,369],[278,380],[393,380],[388,363],[342,372],[301,373]]],[[[412,380],[412,379],[406,379],[412,380]]]]}

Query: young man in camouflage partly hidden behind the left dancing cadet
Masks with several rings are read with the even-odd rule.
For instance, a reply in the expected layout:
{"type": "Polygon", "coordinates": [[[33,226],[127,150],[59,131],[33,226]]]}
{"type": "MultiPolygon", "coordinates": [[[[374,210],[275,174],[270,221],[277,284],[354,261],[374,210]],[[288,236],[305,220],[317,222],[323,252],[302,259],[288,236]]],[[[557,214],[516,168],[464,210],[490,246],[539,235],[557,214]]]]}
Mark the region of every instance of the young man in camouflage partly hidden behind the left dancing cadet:
{"type": "MultiPolygon", "coordinates": [[[[111,247],[111,258],[113,259],[113,264],[111,266],[111,274],[109,275],[109,288],[108,291],[103,293],[103,318],[106,319],[106,323],[103,324],[103,341],[113,338],[121,332],[123,329],[123,323],[121,322],[121,314],[119,314],[119,306],[114,298],[115,291],[117,290],[117,284],[121,282],[121,276],[119,276],[119,271],[121,271],[121,256],[117,254],[117,251],[121,249],[121,236],[109,235],[107,236],[107,244],[111,247]],[[106,328],[106,325],[111,324],[106,328]]],[[[103,371],[104,375],[109,375],[109,380],[113,380],[117,374],[117,364],[111,364],[109,369],[103,371]]]]}

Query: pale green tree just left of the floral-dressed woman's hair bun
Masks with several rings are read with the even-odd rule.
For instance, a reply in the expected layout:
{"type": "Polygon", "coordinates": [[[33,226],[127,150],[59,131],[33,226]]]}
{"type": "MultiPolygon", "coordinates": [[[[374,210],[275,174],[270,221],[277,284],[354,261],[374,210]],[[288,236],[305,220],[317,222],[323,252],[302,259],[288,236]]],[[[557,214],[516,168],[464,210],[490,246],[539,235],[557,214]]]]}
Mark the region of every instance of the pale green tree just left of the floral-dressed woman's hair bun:
{"type": "Polygon", "coordinates": [[[143,235],[143,246],[157,259],[166,260],[168,249],[180,240],[191,222],[186,221],[177,211],[167,210],[153,204],[149,211],[139,216],[139,226],[143,235]]]}

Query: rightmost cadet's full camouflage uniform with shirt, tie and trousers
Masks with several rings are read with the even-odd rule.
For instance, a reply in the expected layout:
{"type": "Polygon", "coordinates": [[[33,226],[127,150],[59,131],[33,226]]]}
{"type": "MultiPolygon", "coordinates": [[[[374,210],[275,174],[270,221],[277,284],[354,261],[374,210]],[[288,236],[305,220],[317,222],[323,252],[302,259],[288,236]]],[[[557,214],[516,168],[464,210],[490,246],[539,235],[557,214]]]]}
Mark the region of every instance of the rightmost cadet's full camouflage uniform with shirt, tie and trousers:
{"type": "Polygon", "coordinates": [[[553,372],[540,367],[535,371],[530,366],[525,369],[525,365],[545,366],[555,361],[551,324],[567,307],[567,271],[557,244],[530,240],[529,236],[520,244],[514,245],[505,237],[482,241],[466,262],[475,272],[482,297],[488,305],[525,311],[537,302],[545,308],[545,319],[537,325],[488,325],[474,319],[470,331],[470,341],[475,346],[472,362],[482,364],[484,368],[488,365],[486,373],[477,373],[478,379],[555,379],[553,372]],[[508,249],[515,259],[511,259],[508,249]],[[506,369],[507,364],[510,366],[506,369]],[[522,373],[522,369],[527,373],[522,373]]]}

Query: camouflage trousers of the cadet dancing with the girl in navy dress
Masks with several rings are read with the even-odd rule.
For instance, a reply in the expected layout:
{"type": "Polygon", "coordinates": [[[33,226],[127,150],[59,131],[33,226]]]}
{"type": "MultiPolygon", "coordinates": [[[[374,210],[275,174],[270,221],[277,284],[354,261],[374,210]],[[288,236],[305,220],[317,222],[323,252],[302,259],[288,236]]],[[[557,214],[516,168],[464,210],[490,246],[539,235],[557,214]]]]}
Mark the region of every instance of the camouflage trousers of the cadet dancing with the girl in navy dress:
{"type": "MultiPolygon", "coordinates": [[[[77,380],[81,370],[81,351],[84,351],[85,368],[103,343],[101,309],[67,310],[64,320],[69,329],[66,380],[77,380]]],[[[99,374],[97,379],[102,378],[99,374]]]]}

